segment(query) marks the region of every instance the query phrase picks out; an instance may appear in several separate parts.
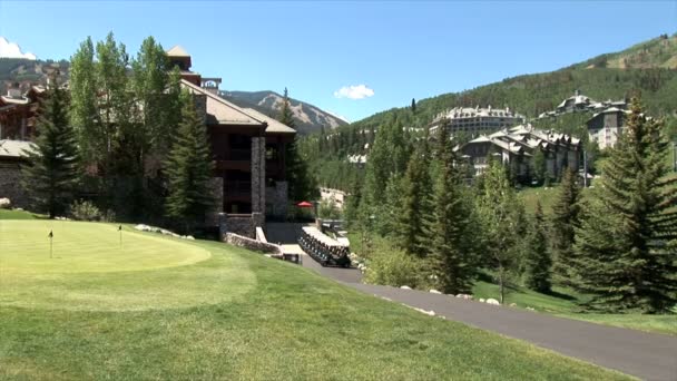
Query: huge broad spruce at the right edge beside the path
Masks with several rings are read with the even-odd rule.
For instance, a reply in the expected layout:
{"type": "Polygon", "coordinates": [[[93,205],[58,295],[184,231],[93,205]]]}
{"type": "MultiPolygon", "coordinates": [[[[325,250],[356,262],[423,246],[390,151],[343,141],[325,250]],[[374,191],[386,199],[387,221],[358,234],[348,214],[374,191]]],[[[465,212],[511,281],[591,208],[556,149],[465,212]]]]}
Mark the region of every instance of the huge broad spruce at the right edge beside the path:
{"type": "Polygon", "coordinates": [[[576,286],[590,307],[667,312],[677,303],[677,178],[668,177],[663,123],[635,98],[627,131],[602,167],[577,229],[576,286]]]}

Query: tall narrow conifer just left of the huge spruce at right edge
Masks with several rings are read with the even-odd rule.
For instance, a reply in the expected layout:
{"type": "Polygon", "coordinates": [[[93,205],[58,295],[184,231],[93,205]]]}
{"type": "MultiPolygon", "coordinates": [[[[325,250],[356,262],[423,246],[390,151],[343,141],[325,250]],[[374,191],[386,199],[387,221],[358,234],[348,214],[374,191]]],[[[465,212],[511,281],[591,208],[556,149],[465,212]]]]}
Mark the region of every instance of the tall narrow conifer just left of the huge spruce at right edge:
{"type": "Polygon", "coordinates": [[[550,242],[555,256],[555,275],[558,283],[571,285],[573,279],[573,242],[580,225],[580,189],[572,169],[565,172],[559,193],[552,205],[550,242]]]}

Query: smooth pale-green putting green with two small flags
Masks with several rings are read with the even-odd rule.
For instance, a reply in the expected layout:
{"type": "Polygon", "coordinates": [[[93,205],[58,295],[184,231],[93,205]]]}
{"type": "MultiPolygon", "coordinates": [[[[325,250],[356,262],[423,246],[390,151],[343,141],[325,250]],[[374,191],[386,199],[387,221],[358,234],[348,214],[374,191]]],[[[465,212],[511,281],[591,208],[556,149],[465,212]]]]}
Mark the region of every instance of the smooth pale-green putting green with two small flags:
{"type": "Polygon", "coordinates": [[[243,295],[255,282],[239,257],[178,238],[125,228],[120,245],[117,225],[0,221],[0,307],[180,309],[243,295]]]}

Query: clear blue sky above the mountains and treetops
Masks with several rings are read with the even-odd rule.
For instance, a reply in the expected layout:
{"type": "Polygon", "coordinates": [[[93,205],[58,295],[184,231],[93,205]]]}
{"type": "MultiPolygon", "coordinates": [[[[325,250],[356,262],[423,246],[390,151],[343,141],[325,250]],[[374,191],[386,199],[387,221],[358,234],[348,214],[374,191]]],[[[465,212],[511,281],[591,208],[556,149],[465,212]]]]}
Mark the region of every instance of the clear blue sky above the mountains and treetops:
{"type": "Polygon", "coordinates": [[[39,58],[69,58],[108,31],[133,53],[150,35],[181,45],[224,90],[287,87],[357,120],[671,35],[677,1],[0,0],[0,36],[39,58]]]}

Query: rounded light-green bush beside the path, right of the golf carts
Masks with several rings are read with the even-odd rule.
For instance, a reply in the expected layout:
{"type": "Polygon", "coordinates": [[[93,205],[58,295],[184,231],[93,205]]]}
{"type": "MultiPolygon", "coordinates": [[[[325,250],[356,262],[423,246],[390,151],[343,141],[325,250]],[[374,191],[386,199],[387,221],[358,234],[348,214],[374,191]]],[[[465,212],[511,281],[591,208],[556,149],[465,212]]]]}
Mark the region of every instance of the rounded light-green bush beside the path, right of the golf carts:
{"type": "Polygon", "coordinates": [[[392,247],[380,247],[369,255],[364,281],[390,286],[406,285],[412,289],[424,285],[423,261],[392,247]]]}

